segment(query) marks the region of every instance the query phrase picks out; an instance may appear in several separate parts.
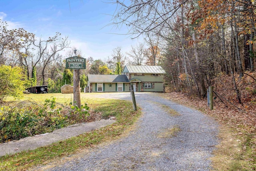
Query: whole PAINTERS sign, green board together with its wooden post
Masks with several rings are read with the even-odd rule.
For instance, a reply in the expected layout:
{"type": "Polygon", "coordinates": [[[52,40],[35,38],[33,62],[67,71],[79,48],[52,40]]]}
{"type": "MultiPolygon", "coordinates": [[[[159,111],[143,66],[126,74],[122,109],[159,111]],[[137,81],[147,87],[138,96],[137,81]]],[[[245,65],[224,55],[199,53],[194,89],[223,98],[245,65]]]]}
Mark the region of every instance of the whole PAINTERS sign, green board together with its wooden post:
{"type": "MultiPolygon", "coordinates": [[[[76,54],[76,50],[74,50],[76,54]]],[[[81,107],[80,97],[80,69],[86,69],[86,59],[79,56],[66,58],[66,69],[73,69],[74,99],[73,105],[81,107]]]]}

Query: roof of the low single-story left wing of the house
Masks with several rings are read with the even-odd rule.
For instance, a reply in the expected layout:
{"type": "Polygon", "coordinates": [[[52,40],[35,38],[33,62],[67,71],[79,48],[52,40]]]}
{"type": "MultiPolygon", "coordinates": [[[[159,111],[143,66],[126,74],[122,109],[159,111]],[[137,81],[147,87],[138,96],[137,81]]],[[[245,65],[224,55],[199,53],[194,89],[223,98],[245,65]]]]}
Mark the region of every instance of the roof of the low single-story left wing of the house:
{"type": "Polygon", "coordinates": [[[126,75],[96,75],[88,74],[90,83],[129,82],[126,75]]]}

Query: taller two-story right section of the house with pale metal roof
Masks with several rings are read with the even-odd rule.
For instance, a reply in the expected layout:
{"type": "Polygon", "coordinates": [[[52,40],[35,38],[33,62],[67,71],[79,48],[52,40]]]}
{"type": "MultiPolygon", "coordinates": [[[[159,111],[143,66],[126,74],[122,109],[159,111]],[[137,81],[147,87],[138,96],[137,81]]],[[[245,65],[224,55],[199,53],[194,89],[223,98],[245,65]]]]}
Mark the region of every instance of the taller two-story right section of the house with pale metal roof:
{"type": "Polygon", "coordinates": [[[123,70],[134,92],[164,92],[164,73],[161,66],[126,65],[123,70]]]}

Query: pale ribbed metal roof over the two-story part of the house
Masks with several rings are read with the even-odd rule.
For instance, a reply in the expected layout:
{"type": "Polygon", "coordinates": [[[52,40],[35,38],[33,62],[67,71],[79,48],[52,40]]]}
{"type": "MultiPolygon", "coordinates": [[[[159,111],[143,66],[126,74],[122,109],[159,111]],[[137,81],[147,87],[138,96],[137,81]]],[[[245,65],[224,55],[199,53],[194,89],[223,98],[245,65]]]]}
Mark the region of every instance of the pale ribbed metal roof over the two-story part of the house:
{"type": "Polygon", "coordinates": [[[144,73],[144,74],[164,74],[161,66],[132,66],[126,65],[123,73],[144,73]]]}

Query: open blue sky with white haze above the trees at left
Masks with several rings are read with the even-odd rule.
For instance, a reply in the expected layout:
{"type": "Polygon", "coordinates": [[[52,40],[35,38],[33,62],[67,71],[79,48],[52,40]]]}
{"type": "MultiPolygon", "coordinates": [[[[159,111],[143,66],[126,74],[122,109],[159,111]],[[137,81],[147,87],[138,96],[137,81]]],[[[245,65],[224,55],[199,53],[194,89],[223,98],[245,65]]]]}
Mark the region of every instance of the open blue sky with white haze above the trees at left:
{"type": "Polygon", "coordinates": [[[116,5],[108,0],[0,0],[0,19],[9,28],[24,28],[37,37],[48,38],[60,32],[68,36],[71,47],[81,49],[84,58],[111,57],[118,46],[128,52],[138,39],[131,40],[126,27],[111,23],[116,5]]]}

